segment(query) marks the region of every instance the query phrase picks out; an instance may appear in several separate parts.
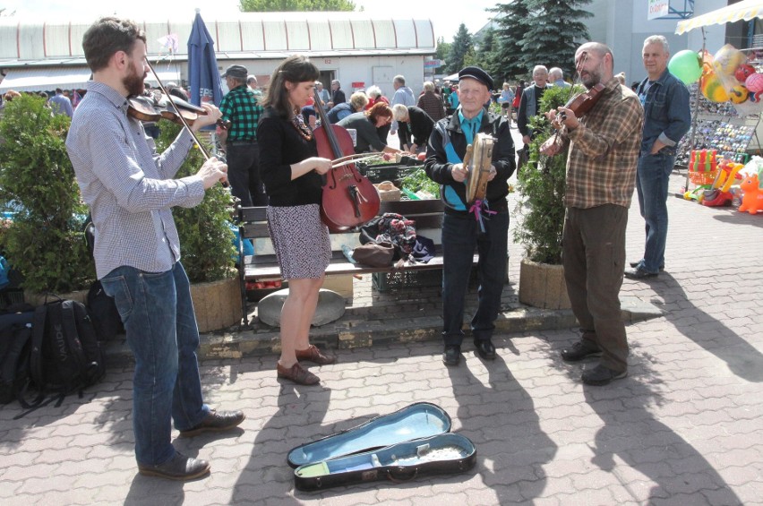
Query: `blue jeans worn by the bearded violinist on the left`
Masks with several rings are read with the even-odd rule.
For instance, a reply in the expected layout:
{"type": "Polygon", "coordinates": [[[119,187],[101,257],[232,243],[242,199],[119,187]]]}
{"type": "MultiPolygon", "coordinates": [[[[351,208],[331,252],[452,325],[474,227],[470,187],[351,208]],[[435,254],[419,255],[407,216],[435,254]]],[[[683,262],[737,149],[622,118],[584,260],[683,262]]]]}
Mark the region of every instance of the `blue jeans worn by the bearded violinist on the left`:
{"type": "Polygon", "coordinates": [[[201,399],[199,329],[188,277],[180,262],[166,272],[122,266],[101,284],[115,299],[135,356],[135,458],[144,466],[163,464],[175,457],[172,420],[182,431],[210,413],[201,399]]]}

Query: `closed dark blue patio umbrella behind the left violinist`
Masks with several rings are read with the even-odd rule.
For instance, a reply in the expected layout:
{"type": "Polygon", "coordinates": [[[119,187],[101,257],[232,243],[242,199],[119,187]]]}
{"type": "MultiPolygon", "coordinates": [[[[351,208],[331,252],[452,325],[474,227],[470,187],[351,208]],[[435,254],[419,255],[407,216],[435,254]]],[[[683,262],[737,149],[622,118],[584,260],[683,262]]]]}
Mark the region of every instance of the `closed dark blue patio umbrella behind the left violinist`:
{"type": "Polygon", "coordinates": [[[191,37],[188,38],[188,81],[190,81],[191,103],[194,106],[201,106],[201,102],[210,102],[219,106],[222,91],[218,59],[215,57],[215,43],[199,11],[196,9],[191,37]]]}

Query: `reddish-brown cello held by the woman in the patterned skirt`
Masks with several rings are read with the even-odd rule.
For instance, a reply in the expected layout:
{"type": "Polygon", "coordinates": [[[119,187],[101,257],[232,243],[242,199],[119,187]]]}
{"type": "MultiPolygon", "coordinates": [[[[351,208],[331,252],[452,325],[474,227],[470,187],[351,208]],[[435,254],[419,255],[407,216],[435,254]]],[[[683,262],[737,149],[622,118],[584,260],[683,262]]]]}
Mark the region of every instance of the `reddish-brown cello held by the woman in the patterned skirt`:
{"type": "Polygon", "coordinates": [[[323,176],[325,182],[321,220],[331,232],[359,227],[379,213],[379,192],[367,177],[358,172],[354,163],[336,163],[340,159],[352,159],[355,156],[352,137],[341,126],[330,124],[326,112],[321,107],[318,91],[313,92],[315,108],[321,117],[321,126],[313,131],[318,156],[335,160],[331,170],[323,176]]]}

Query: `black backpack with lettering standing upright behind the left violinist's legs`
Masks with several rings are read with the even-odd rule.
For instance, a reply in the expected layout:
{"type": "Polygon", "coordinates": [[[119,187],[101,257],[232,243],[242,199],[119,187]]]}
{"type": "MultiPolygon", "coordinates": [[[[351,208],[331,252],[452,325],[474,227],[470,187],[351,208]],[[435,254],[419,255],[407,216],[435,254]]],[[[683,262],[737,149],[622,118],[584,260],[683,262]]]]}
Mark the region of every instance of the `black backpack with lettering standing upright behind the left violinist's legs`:
{"type": "Polygon", "coordinates": [[[99,382],[106,373],[103,352],[83,304],[72,300],[39,306],[32,324],[31,380],[39,389],[32,406],[47,392],[64,397],[99,382]]]}

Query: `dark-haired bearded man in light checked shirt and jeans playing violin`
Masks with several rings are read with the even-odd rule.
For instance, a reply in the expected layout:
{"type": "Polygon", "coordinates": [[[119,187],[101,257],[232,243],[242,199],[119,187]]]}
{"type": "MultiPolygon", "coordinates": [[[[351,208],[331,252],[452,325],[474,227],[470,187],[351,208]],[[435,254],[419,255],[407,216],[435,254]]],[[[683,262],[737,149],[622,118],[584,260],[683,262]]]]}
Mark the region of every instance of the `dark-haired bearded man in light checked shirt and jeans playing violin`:
{"type": "MultiPolygon", "coordinates": [[[[149,70],[146,35],[133,21],[102,18],[82,39],[93,73],[66,138],[82,199],[95,225],[96,273],[116,301],[135,356],[133,433],[139,472],[175,480],[207,474],[206,460],[185,457],[170,442],[181,436],[232,429],[241,411],[215,411],[201,395],[199,331],[188,277],[180,262],[173,206],[192,207],[225,181],[227,167],[210,159],[194,176],[173,179],[191,149],[183,131],[157,159],[128,97],[143,91],[149,70]]],[[[214,124],[204,105],[192,129],[214,124]]]]}

